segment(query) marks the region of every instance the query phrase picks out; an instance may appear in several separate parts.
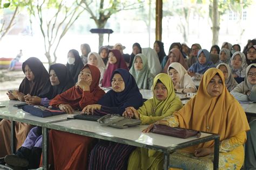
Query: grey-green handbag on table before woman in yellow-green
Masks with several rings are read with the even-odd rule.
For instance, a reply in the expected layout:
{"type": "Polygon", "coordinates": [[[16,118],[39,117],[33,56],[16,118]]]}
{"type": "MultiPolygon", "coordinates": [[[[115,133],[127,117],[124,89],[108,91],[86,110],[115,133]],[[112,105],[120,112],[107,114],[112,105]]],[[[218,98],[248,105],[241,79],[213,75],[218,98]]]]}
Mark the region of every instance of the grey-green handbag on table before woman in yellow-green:
{"type": "Polygon", "coordinates": [[[130,126],[139,125],[140,119],[126,118],[120,115],[107,114],[98,119],[98,123],[102,126],[111,126],[113,128],[125,129],[130,126]]]}

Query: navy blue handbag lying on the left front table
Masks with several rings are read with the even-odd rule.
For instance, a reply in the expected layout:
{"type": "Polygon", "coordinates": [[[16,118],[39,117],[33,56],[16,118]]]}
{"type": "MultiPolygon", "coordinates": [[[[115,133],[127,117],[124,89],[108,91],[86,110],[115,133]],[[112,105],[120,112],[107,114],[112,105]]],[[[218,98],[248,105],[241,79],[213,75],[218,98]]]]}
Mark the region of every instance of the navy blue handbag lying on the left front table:
{"type": "Polygon", "coordinates": [[[56,109],[48,109],[41,105],[24,105],[22,110],[29,112],[33,116],[49,117],[65,114],[65,112],[56,109]]]}

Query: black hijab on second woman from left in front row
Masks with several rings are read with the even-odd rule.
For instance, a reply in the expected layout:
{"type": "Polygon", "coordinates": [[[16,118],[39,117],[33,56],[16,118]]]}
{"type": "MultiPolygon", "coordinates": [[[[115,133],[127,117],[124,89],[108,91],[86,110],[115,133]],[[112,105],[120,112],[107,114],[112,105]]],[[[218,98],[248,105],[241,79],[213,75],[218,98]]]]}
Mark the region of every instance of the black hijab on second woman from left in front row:
{"type": "Polygon", "coordinates": [[[51,65],[49,73],[52,69],[55,70],[59,84],[57,86],[49,86],[48,88],[45,88],[41,94],[41,97],[47,97],[49,100],[75,85],[73,78],[65,65],[61,63],[51,65]]]}

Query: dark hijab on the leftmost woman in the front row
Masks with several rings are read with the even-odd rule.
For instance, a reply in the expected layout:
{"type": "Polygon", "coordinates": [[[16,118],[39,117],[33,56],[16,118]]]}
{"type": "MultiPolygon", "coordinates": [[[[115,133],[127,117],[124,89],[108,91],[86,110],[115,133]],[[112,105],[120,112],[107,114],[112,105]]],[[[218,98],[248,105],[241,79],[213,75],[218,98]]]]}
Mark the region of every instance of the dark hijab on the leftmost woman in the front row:
{"type": "Polygon", "coordinates": [[[26,77],[22,80],[21,85],[19,85],[19,92],[31,96],[40,96],[42,90],[44,88],[48,88],[51,86],[49,80],[49,74],[45,69],[43,63],[35,58],[31,57],[22,64],[22,70],[25,74],[25,66],[28,65],[31,69],[35,79],[29,81],[26,77]]]}

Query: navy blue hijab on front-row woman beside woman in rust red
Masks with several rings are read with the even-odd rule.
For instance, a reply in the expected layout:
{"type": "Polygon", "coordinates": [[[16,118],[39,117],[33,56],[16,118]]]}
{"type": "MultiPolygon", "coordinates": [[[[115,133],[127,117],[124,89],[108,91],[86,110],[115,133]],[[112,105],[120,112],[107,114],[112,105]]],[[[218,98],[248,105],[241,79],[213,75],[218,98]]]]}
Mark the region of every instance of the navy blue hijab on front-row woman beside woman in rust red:
{"type": "Polygon", "coordinates": [[[142,106],[142,94],[140,94],[136,81],[129,71],[123,68],[114,70],[110,81],[112,81],[114,74],[120,74],[123,77],[125,83],[124,90],[120,93],[116,93],[114,90],[107,91],[107,93],[98,101],[98,104],[105,107],[118,107],[118,112],[115,114],[119,115],[122,115],[127,107],[138,109],[142,106]]]}

